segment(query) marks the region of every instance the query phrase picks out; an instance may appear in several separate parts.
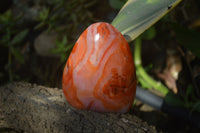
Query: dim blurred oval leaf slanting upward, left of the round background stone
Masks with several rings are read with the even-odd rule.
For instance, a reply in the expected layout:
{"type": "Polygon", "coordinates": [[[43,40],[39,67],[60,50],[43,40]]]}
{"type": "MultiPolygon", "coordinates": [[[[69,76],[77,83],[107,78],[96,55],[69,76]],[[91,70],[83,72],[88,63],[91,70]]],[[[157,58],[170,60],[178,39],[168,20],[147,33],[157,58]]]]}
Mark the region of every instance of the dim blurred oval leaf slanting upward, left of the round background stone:
{"type": "Polygon", "coordinates": [[[14,36],[10,44],[13,45],[13,44],[20,43],[26,37],[28,32],[29,32],[28,29],[21,31],[20,33],[14,36]]]}

